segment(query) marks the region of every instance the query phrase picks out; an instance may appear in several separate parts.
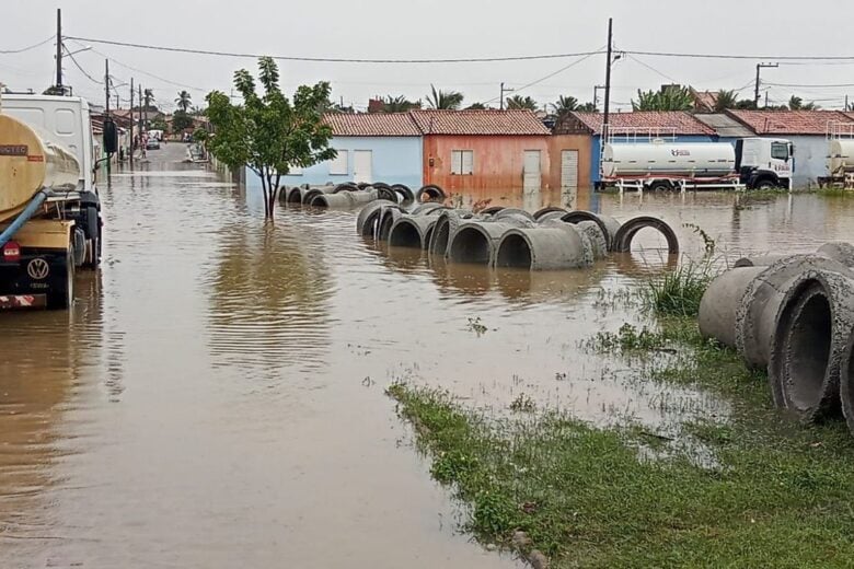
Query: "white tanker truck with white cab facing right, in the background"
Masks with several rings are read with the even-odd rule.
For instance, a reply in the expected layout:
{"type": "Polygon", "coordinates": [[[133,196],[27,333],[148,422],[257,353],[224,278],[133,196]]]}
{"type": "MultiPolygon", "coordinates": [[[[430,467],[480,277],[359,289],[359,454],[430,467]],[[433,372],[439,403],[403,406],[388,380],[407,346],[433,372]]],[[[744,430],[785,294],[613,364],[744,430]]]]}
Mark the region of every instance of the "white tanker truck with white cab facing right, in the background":
{"type": "Polygon", "coordinates": [[[602,185],[619,189],[790,188],[794,148],[784,139],[728,142],[609,142],[602,150],[602,185]]]}

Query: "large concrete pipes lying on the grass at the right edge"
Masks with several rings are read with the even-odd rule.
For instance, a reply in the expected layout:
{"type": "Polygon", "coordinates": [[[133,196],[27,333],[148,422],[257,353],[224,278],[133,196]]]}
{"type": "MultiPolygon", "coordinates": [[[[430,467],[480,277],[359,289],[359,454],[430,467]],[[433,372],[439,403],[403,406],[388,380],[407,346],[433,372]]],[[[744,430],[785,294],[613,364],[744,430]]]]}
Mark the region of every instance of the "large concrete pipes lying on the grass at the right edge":
{"type": "Polygon", "coordinates": [[[842,414],[854,433],[854,246],[741,259],[700,306],[700,330],[766,370],[777,407],[806,422],[842,414]]]}

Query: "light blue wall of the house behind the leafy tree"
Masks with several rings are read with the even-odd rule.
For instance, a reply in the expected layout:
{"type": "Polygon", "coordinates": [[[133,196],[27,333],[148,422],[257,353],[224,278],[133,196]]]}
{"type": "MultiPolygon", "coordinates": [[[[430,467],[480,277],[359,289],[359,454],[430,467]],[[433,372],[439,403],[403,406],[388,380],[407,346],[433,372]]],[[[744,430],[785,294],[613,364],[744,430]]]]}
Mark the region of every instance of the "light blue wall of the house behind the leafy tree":
{"type": "MultiPolygon", "coordinates": [[[[418,189],[422,183],[422,138],[420,137],[334,137],[330,147],[346,150],[347,174],[330,174],[330,162],[321,162],[307,167],[301,174],[282,176],[281,185],[301,186],[302,184],[324,185],[353,182],[353,151],[372,151],[372,182],[405,184],[418,189]]],[[[252,171],[246,172],[249,187],[261,187],[261,178],[252,171]]]]}

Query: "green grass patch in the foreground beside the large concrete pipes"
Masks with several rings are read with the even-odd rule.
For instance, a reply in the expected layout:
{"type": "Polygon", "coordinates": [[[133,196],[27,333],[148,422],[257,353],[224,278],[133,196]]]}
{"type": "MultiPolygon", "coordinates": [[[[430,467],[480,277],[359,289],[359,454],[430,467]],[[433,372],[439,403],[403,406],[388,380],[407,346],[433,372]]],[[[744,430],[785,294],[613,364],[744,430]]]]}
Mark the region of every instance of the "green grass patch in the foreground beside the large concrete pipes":
{"type": "Polygon", "coordinates": [[[677,440],[650,441],[637,425],[598,429],[549,410],[498,419],[405,384],[389,394],[483,543],[513,548],[511,535],[524,531],[556,568],[854,566],[844,425],[782,416],[762,374],[704,341],[692,318],[649,334],[656,341],[626,349],[661,339],[679,353],[642,365],[638,381],[712,391],[731,402],[728,421],[692,419],[677,440]],[[714,466],[699,465],[697,444],[714,466]]]}

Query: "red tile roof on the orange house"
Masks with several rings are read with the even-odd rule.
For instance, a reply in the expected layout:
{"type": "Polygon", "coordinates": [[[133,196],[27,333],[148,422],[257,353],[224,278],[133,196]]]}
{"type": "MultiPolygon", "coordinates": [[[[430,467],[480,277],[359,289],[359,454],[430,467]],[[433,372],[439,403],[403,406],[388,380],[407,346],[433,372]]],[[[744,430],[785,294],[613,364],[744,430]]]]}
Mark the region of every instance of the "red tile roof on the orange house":
{"type": "Polygon", "coordinates": [[[425,135],[549,135],[532,111],[411,111],[425,135]]]}

